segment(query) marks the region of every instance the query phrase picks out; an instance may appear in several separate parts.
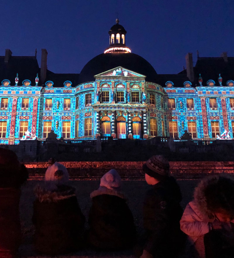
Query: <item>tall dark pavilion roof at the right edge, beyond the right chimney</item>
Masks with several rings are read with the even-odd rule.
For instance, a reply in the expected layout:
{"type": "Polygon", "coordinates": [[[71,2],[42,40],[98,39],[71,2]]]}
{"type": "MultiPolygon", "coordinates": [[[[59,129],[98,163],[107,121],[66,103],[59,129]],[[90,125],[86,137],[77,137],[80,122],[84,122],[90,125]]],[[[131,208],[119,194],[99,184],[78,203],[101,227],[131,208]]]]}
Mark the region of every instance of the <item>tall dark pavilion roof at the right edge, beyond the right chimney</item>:
{"type": "Polygon", "coordinates": [[[214,80],[218,83],[218,75],[223,78],[223,86],[226,86],[228,80],[234,80],[234,57],[228,57],[225,62],[223,57],[198,57],[194,67],[194,83],[199,85],[199,73],[202,76],[203,86],[206,86],[208,80],[214,80]]]}

